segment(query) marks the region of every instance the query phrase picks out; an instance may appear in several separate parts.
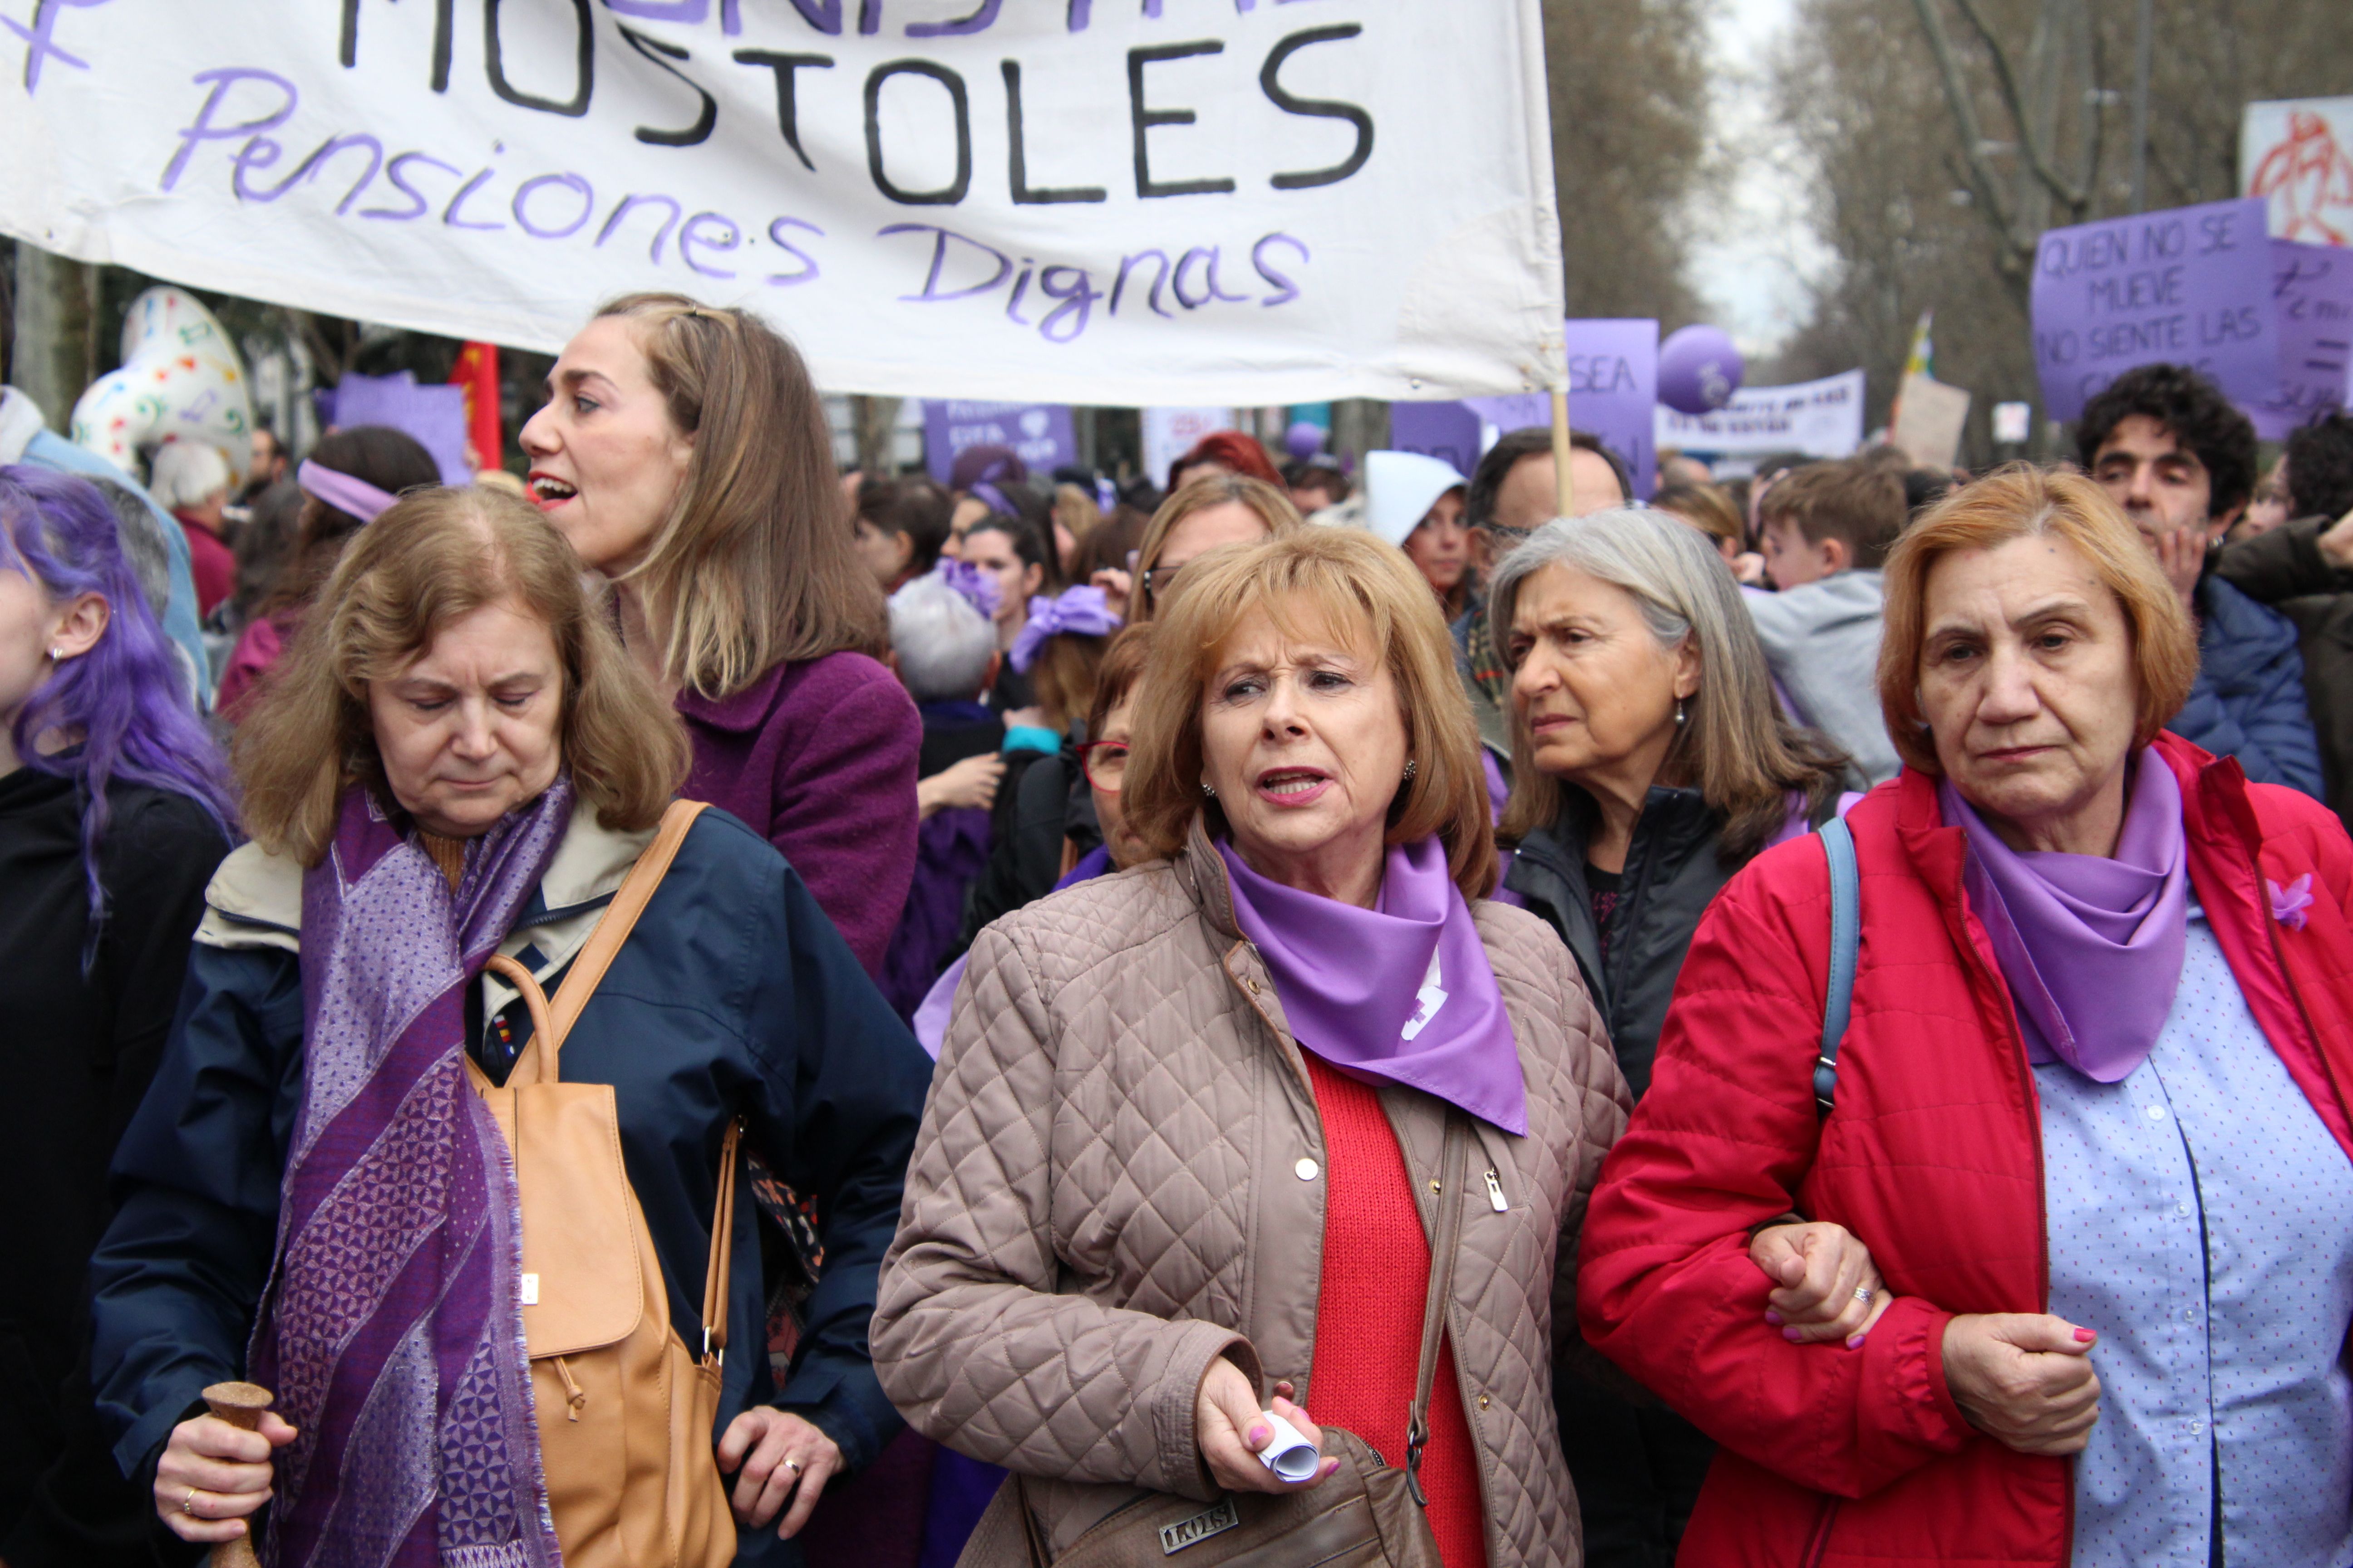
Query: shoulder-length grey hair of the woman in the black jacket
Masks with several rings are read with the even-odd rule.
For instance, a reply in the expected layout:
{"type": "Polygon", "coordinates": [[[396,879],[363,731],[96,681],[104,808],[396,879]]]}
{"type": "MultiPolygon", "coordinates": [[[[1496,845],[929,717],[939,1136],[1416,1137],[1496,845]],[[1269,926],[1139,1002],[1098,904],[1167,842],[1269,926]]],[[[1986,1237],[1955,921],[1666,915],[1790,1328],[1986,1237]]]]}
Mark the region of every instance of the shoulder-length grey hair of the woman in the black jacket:
{"type": "MultiPolygon", "coordinates": [[[[1546,567],[1569,567],[1631,595],[1661,649],[1697,649],[1699,689],[1659,783],[1697,788],[1732,818],[1725,827],[1727,853],[1753,853],[1788,816],[1791,790],[1802,790],[1817,806],[1835,795],[1845,757],[1781,717],[1755,623],[1706,534],[1647,508],[1544,524],[1504,557],[1487,590],[1487,625],[1506,658],[1520,588],[1546,567]]],[[[1518,661],[1511,663],[1518,668],[1518,661]]],[[[1513,790],[1504,837],[1518,839],[1553,823],[1562,788],[1565,780],[1534,769],[1513,705],[1513,790]]]]}

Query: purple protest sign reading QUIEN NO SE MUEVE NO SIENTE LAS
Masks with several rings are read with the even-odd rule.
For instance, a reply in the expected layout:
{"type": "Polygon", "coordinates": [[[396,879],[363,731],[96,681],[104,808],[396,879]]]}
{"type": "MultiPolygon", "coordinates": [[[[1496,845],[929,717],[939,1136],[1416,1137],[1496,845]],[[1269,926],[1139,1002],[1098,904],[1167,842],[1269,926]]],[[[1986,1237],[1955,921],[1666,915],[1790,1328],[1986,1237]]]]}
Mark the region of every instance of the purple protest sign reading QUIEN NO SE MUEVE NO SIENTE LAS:
{"type": "Polygon", "coordinates": [[[2035,247],[2035,369],[2052,418],[2137,364],[2191,364],[2240,407],[2278,393],[2264,202],[2052,228],[2035,247]]]}

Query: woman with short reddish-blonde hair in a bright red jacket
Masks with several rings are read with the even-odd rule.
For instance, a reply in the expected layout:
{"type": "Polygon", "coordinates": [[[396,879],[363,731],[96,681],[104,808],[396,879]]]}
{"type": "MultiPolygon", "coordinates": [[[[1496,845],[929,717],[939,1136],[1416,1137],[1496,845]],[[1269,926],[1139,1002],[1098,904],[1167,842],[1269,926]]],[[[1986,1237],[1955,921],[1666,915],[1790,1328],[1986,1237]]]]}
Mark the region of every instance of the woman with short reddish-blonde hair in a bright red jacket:
{"type": "Polygon", "coordinates": [[[1699,926],[1584,1234],[1593,1345],[1718,1439],[1682,1563],[2353,1556],[2353,846],[2162,733],[2195,639],[2089,482],[1981,480],[1887,562],[1904,773],[1699,926]],[[1885,1291],[1791,1345],[1755,1227],[1885,1291]]]}

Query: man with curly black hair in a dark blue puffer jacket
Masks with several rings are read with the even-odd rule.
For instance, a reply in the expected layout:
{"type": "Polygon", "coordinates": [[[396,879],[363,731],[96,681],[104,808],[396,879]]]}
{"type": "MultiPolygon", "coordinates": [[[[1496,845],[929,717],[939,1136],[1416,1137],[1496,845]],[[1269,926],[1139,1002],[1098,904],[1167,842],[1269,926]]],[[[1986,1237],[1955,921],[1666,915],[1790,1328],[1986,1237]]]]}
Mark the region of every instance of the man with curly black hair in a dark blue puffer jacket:
{"type": "Polygon", "coordinates": [[[2254,425],[2186,364],[2144,364],[2085,404],[2085,470],[2125,508],[2198,623],[2198,684],[2169,729],[2247,778],[2322,795],[2297,628],[2214,576],[2254,496],[2254,425]]]}

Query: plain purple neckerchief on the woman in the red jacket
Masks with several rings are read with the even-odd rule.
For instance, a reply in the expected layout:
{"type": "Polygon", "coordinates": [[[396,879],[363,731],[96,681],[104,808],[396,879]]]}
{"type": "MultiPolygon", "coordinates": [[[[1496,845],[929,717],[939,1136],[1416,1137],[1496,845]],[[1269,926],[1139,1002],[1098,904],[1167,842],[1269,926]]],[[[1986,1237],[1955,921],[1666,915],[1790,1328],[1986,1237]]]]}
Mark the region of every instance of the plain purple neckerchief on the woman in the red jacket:
{"type": "Polygon", "coordinates": [[[1969,835],[1962,884],[2009,980],[2026,1053],[2101,1084],[2139,1067],[2174,1009],[2188,947],[2181,783],[2141,752],[2115,856],[2017,851],[1937,785],[1944,820],[1969,835]]]}

